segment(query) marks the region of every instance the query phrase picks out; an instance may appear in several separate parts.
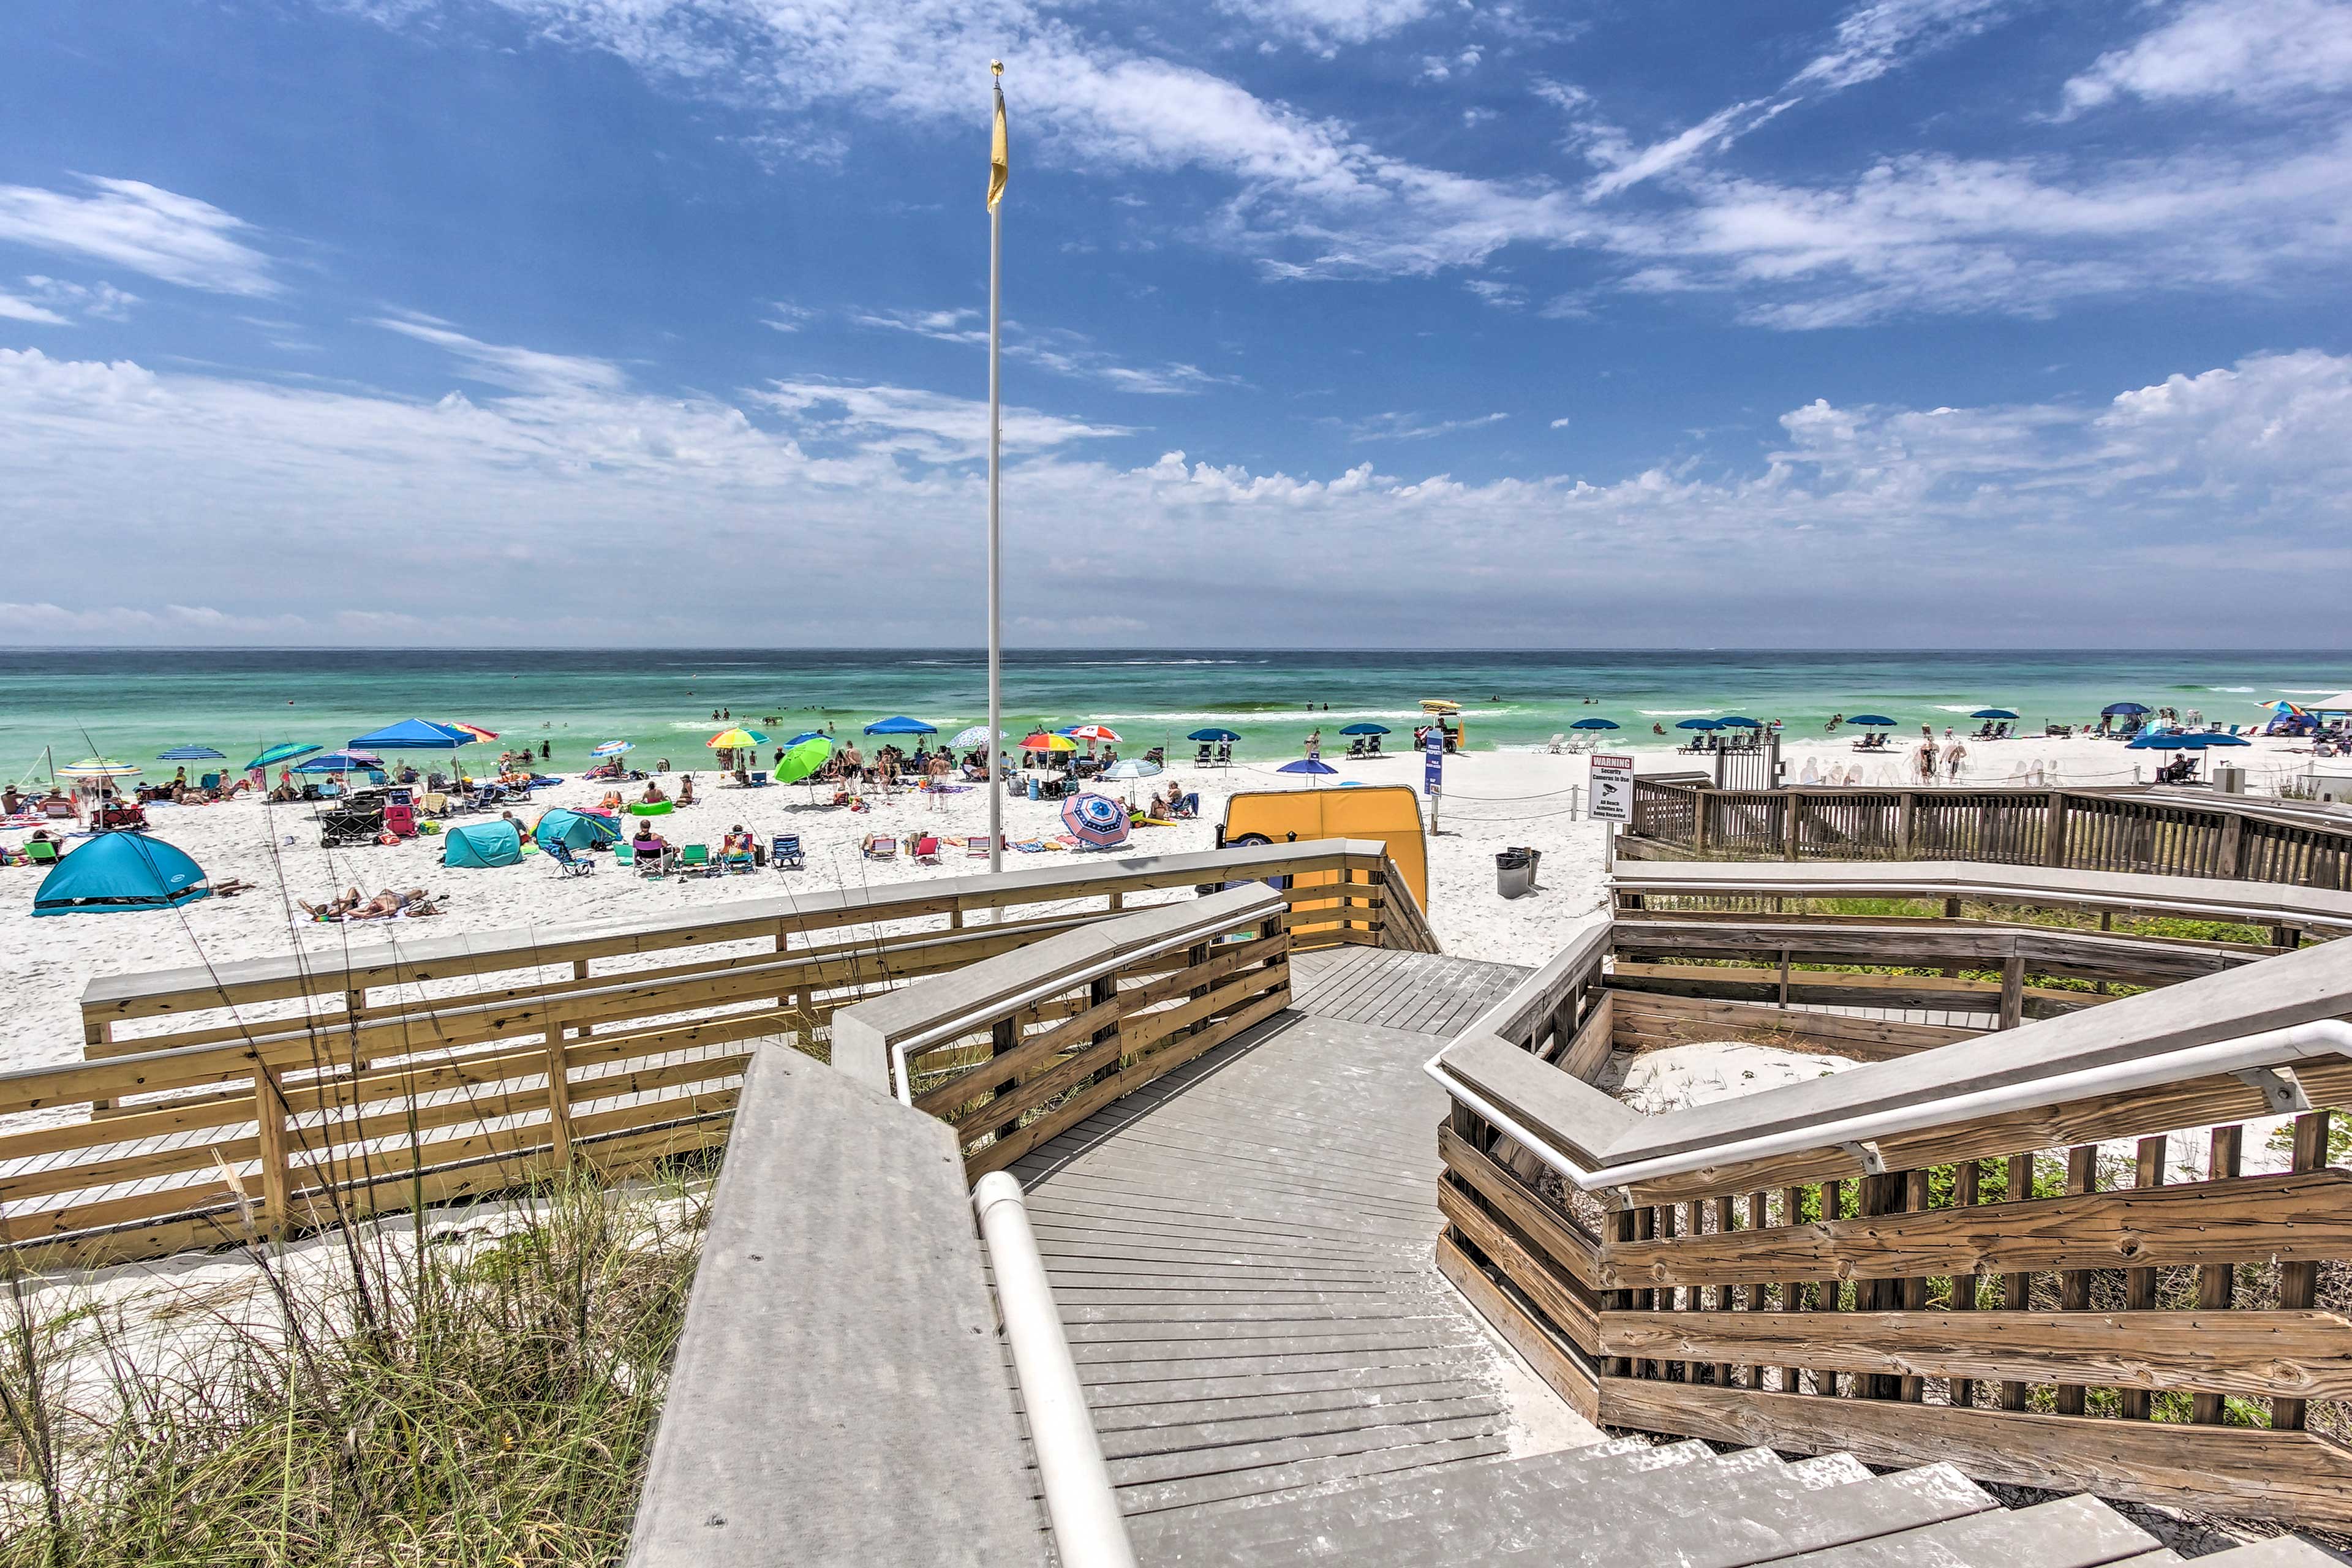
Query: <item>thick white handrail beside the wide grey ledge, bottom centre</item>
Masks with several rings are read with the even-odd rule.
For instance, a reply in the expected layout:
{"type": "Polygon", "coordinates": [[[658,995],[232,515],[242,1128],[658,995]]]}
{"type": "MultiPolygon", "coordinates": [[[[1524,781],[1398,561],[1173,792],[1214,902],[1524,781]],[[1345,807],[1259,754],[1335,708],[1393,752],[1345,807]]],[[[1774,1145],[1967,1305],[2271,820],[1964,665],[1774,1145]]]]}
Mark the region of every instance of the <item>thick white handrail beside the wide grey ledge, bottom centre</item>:
{"type": "Polygon", "coordinates": [[[1063,1568],[1136,1568],[1127,1516],[1120,1512],[1103,1441],[1087,1410],[1087,1387],[1077,1380],[1070,1340],[1061,1331],[1054,1284],[1037,1251],[1037,1232],[1028,1222],[1021,1182],[1004,1171],[983,1175],[971,1190],[971,1208],[978,1213],[981,1241],[997,1279],[1004,1340],[1021,1378],[1037,1481],[1044,1486],[1044,1512],[1054,1523],[1054,1552],[1063,1568]]]}

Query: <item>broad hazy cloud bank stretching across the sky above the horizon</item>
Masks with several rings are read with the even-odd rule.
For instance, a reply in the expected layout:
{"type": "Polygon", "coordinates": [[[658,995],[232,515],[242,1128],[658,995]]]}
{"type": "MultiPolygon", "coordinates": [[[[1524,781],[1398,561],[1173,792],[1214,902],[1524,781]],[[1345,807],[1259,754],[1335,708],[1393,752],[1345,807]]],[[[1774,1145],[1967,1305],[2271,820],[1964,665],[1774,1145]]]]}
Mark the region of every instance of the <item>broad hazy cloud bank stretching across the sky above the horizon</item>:
{"type": "MultiPolygon", "coordinates": [[[[1454,421],[1378,423],[1402,440],[1454,421]]],[[[557,381],[421,402],[0,350],[0,527],[108,550],[92,597],[82,578],[19,592],[0,637],[430,642],[529,604],[515,635],[546,642],[882,642],[906,623],[974,642],[976,430],[976,400],[913,388],[724,402],[557,381]],[[811,625],[757,595],[724,614],[699,592],[614,599],[771,562],[795,607],[873,602],[887,574],[894,614],[811,625]],[[285,616],[320,630],[240,630],[285,616]]],[[[1011,581],[1188,642],[1388,614],[1439,644],[1543,639],[1578,595],[1599,595],[1613,635],[1686,637],[1689,595],[1736,574],[1755,588],[1743,630],[1764,639],[1828,616],[1860,642],[1987,604],[1992,639],[2065,625],[2112,644],[2216,592],[2300,602],[2352,569],[2352,357],[2317,350],[2089,404],[1811,402],[1750,463],[1602,482],[1456,480],[1435,435],[1397,447],[1430,454],[1428,473],[1312,477],[1183,451],[1101,461],[1117,430],[1087,418],[1016,411],[1011,433],[1011,581]],[[1115,548],[1073,550],[1068,524],[1101,517],[1115,548]]]]}

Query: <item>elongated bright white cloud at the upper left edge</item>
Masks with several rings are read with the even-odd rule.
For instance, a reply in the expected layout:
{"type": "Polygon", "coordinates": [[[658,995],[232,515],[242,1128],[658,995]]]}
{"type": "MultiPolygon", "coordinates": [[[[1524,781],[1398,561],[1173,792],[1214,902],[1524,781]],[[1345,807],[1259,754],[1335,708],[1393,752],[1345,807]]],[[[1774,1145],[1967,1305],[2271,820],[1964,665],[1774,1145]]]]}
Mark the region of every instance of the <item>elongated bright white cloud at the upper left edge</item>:
{"type": "Polygon", "coordinates": [[[193,195],[136,179],[82,176],[87,195],[0,186],[0,240],[89,256],[214,294],[275,294],[254,226],[193,195]]]}

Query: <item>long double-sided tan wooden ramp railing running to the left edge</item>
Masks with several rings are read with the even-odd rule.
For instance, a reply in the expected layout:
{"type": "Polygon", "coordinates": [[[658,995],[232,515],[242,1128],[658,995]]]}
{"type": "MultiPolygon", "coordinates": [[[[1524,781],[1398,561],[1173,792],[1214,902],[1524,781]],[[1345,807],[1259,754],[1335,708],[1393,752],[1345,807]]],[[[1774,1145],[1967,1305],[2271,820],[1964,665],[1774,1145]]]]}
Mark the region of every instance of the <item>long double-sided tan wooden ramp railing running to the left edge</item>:
{"type": "Polygon", "coordinates": [[[1225,882],[1279,882],[1296,945],[1432,945],[1329,839],[101,978],[87,1060],[0,1074],[0,1239],[153,1258],[717,1145],[762,1041],[826,1056],[842,1006],[1225,882]]]}

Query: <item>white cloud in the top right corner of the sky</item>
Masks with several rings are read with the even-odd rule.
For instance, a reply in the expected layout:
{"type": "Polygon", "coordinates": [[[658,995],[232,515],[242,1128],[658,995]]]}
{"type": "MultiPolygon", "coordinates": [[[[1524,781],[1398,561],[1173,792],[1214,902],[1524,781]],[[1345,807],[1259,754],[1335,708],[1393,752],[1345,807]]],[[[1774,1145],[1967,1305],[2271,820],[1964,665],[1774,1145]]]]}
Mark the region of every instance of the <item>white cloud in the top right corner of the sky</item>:
{"type": "Polygon", "coordinates": [[[2150,103],[2232,99],[2277,108],[2352,89],[2352,5],[2343,0],[2192,0],[2129,49],[2065,85],[2065,113],[2119,96],[2150,103]]]}

